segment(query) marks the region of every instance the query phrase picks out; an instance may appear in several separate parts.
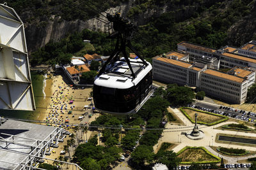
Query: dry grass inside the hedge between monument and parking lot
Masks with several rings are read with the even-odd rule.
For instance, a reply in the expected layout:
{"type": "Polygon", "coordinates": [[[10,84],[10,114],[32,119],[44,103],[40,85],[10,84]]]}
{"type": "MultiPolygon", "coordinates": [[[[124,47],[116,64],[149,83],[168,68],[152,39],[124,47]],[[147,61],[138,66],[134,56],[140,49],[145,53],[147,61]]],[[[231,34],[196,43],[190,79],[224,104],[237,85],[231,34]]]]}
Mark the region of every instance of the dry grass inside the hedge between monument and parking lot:
{"type": "Polygon", "coordinates": [[[189,117],[191,117],[192,120],[195,120],[195,113],[197,113],[198,122],[205,122],[207,124],[211,124],[212,122],[216,122],[218,120],[223,119],[223,117],[202,113],[200,111],[190,110],[186,108],[183,108],[183,110],[186,111],[186,113],[188,113],[189,117]]]}

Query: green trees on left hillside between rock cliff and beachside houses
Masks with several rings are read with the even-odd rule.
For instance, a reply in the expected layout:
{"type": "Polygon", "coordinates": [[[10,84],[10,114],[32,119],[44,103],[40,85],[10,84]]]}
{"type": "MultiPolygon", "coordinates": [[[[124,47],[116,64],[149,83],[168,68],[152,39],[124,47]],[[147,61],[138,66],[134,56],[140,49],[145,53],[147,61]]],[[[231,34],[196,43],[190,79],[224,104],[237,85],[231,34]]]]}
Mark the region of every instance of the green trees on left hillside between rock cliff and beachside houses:
{"type": "Polygon", "coordinates": [[[102,32],[93,32],[84,29],[82,32],[74,32],[61,41],[49,41],[44,47],[31,53],[31,66],[39,64],[68,64],[72,54],[83,56],[85,53],[100,53],[109,55],[111,53],[111,39],[106,38],[102,32]],[[83,43],[83,39],[90,39],[94,46],[83,43]]]}

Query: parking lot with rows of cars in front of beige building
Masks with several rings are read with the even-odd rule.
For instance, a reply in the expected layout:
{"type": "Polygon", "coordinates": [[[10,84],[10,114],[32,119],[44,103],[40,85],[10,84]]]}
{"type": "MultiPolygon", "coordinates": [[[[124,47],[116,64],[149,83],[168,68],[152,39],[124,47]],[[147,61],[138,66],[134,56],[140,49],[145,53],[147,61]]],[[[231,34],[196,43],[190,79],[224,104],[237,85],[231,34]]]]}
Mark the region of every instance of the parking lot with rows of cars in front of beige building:
{"type": "Polygon", "coordinates": [[[195,108],[198,110],[209,111],[211,113],[225,115],[227,117],[236,118],[246,122],[256,123],[256,113],[253,113],[250,111],[237,110],[236,108],[229,108],[226,106],[218,106],[216,104],[207,104],[207,103],[201,103],[201,102],[196,102],[195,104],[191,104],[189,105],[189,107],[195,108]]]}

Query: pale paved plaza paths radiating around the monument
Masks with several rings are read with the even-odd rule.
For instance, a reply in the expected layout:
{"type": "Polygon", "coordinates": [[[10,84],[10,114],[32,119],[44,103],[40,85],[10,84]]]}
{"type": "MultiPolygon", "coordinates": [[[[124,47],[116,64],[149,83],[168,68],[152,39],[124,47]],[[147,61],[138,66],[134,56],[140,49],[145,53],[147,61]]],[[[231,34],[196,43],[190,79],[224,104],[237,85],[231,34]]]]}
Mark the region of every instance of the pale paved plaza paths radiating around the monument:
{"type": "Polygon", "coordinates": [[[230,145],[228,143],[216,143],[216,134],[219,133],[225,133],[225,134],[233,134],[233,135],[238,135],[238,136],[248,136],[248,137],[255,137],[255,133],[248,133],[248,132],[237,132],[237,131],[228,131],[228,130],[220,130],[220,129],[214,129],[216,127],[220,127],[225,124],[237,124],[237,122],[222,122],[218,125],[213,125],[213,126],[206,126],[206,125],[199,125],[199,129],[202,130],[205,134],[205,137],[200,140],[191,140],[187,138],[182,132],[189,132],[193,129],[194,124],[192,124],[187,117],[184,116],[184,114],[179,111],[177,108],[171,108],[173,112],[184,122],[184,126],[179,126],[179,125],[171,125],[167,124],[166,128],[173,128],[173,129],[166,129],[164,130],[162,134],[162,138],[159,139],[159,143],[154,146],[154,150],[156,151],[157,148],[159,148],[159,145],[163,141],[168,141],[170,143],[175,143],[177,146],[173,148],[173,152],[179,152],[182,148],[185,146],[204,146],[209,150],[209,152],[213,153],[214,155],[218,155],[219,157],[223,157],[223,159],[226,159],[228,161],[228,164],[235,164],[237,163],[237,160],[244,160],[248,159],[250,157],[255,157],[254,155],[246,156],[246,157],[228,157],[225,155],[221,155],[218,152],[215,152],[210,146],[221,146],[221,147],[226,147],[226,148],[243,148],[245,150],[251,150],[255,151],[255,147],[253,146],[239,146],[239,145],[230,145]],[[177,129],[179,127],[179,129],[177,129]]]}

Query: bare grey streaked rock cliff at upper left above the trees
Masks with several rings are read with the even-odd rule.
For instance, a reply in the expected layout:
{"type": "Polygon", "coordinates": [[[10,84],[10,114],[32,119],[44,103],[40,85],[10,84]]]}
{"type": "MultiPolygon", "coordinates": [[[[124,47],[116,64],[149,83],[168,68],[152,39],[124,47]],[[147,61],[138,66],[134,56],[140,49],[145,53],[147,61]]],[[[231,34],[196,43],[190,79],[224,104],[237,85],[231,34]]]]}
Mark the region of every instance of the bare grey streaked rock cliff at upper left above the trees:
{"type": "MultiPolygon", "coordinates": [[[[128,3],[116,6],[116,8],[110,8],[108,11],[106,11],[106,13],[115,13],[116,11],[121,10],[122,15],[126,15],[131,6],[131,2],[132,0],[130,0],[128,3]]],[[[106,15],[106,13],[102,13],[102,15],[106,15]]],[[[52,15],[50,18],[45,18],[45,21],[37,21],[36,23],[38,24],[36,25],[35,23],[26,24],[26,17],[28,17],[28,15],[21,15],[20,17],[25,23],[29,53],[44,46],[50,41],[50,39],[60,40],[61,38],[65,38],[65,36],[71,32],[79,32],[83,29],[104,31],[105,23],[101,22],[100,20],[107,20],[103,16],[100,16],[100,20],[97,18],[92,18],[87,21],[66,21],[62,20],[61,17],[55,17],[52,15]]]]}

